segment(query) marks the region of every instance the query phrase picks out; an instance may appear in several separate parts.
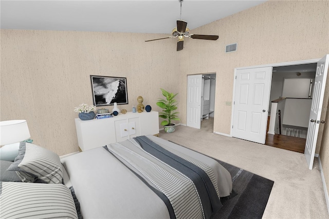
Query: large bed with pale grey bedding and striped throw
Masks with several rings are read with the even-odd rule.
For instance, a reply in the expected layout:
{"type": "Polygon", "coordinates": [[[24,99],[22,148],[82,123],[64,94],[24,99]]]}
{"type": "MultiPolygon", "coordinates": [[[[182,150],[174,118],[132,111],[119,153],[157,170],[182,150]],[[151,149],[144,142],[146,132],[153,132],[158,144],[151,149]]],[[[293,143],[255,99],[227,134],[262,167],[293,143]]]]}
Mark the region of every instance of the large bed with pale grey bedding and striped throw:
{"type": "MultiPolygon", "coordinates": [[[[14,202],[9,201],[12,195],[8,190],[22,185],[59,187],[70,196],[63,204],[69,208],[61,212],[68,212],[66,216],[71,218],[210,218],[220,210],[221,199],[233,194],[231,175],[217,161],[155,136],[108,144],[61,160],[52,154],[57,167],[51,171],[56,174],[46,171],[50,172],[46,177],[40,176],[39,169],[31,173],[32,161],[30,169],[24,167],[41,148],[24,144],[20,145],[21,158],[6,172],[20,174],[23,181],[43,183],[1,182],[1,218],[10,217],[7,212],[20,213],[8,204],[14,202]],[[74,207],[76,214],[72,213],[74,207]]],[[[43,203],[35,205],[39,209],[43,203]]],[[[19,208],[24,216],[27,208],[19,208]]]]}

